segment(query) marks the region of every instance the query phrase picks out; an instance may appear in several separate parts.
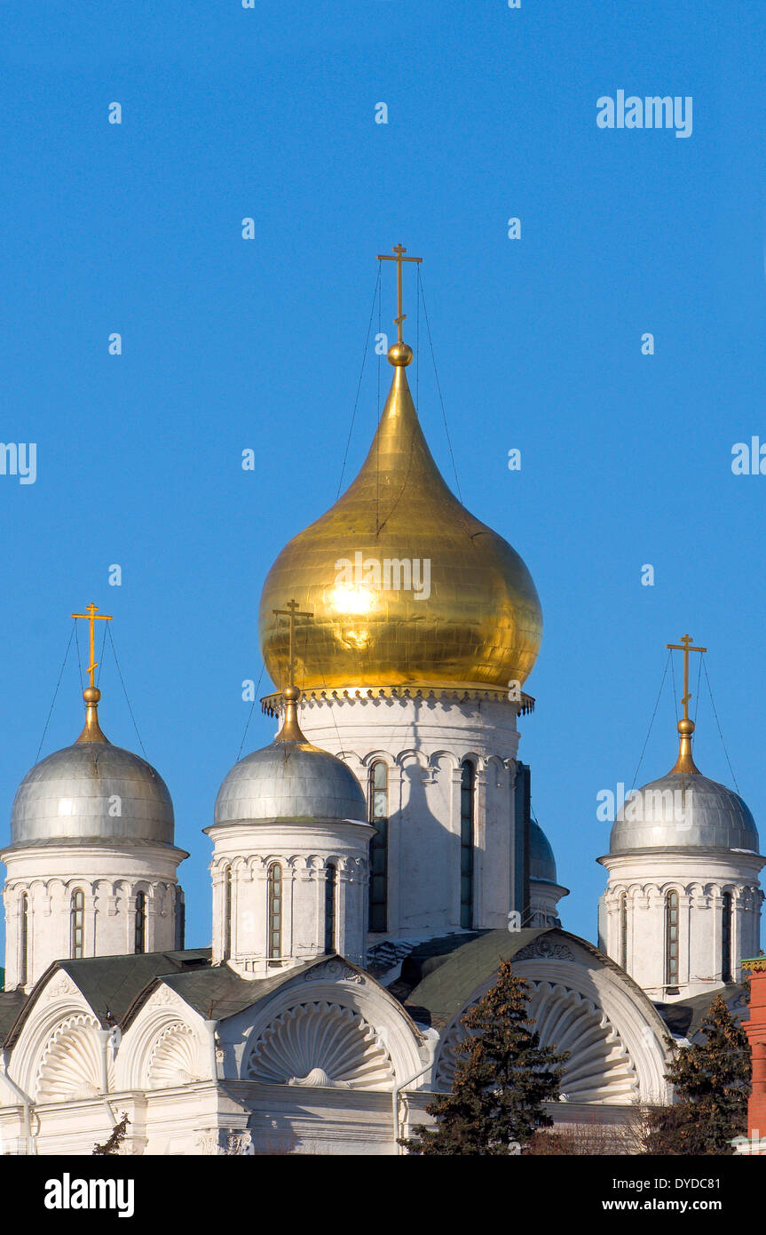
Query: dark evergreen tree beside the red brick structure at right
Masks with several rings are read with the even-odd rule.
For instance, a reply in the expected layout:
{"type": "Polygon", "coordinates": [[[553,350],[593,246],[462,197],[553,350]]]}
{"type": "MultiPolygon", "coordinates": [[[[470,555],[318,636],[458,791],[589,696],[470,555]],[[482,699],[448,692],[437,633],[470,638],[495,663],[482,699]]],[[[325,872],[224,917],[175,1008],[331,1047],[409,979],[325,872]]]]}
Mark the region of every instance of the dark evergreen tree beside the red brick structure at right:
{"type": "Polygon", "coordinates": [[[750,1044],[722,994],[701,1031],[704,1041],[692,1046],[667,1040],[672,1055],[665,1078],[676,1103],[649,1113],[648,1153],[733,1153],[730,1141],[747,1135],[750,1044]]]}

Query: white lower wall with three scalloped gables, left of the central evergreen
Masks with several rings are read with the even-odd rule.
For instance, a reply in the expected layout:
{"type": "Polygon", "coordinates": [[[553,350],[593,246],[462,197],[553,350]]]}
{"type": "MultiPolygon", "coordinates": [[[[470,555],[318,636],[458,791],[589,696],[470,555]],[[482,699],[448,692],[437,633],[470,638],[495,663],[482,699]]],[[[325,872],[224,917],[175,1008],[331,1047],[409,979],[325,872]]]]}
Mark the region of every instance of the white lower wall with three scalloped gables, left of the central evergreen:
{"type": "Polygon", "coordinates": [[[393,1153],[393,1087],[419,1083],[428,1060],[396,1000],[339,957],[222,1023],[160,984],[122,1035],[54,971],[10,1053],[28,1124],[0,1077],[0,1153],[90,1155],[123,1112],[127,1153],[393,1153]],[[285,1079],[337,1067],[353,1084],[264,1082],[264,1061],[285,1079]]]}

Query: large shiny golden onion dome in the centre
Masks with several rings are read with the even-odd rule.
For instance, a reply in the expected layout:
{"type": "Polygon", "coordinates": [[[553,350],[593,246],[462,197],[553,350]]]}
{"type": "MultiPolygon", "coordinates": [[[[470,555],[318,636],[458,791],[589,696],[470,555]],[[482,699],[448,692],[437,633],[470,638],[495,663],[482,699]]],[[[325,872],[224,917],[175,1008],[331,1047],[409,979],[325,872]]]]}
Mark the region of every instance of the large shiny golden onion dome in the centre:
{"type": "Polygon", "coordinates": [[[453,495],[419,426],[406,367],[393,380],[356,479],[295,536],[260,599],[264,662],[290,679],[289,598],[312,614],[295,625],[295,676],[306,690],[507,690],[535,662],[543,618],[532,576],[502,536],[453,495]]]}

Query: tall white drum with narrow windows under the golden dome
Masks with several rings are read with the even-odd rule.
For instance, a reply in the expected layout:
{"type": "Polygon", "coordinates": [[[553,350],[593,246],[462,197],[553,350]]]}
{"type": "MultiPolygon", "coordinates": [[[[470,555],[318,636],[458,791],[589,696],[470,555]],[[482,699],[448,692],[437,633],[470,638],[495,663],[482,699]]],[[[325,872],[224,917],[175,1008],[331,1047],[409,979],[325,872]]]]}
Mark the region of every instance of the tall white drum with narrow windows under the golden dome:
{"type": "MultiPolygon", "coordinates": [[[[389,937],[460,930],[460,764],[475,781],[474,926],[506,927],[518,730],[500,699],[422,695],[301,699],[310,741],[339,756],[370,794],[370,769],[389,768],[389,937]]],[[[375,936],[373,936],[375,939],[375,936]]]]}

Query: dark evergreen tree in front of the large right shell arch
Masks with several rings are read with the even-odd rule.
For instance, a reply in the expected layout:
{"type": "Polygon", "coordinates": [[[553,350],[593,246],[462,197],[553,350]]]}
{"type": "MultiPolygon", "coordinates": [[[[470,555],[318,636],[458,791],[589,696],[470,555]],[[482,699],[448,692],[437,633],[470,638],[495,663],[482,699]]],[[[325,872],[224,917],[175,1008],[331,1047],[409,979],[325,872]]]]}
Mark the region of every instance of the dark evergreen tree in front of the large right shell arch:
{"type": "Polygon", "coordinates": [[[551,1125],[543,1103],[558,1098],[569,1051],[540,1046],[527,1003],[527,983],[503,961],[496,984],[461,1018],[467,1036],[451,1093],[426,1107],[435,1128],[421,1124],[400,1141],[411,1153],[519,1153],[538,1128],[551,1125]]]}

